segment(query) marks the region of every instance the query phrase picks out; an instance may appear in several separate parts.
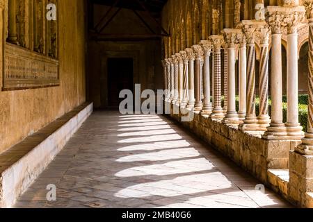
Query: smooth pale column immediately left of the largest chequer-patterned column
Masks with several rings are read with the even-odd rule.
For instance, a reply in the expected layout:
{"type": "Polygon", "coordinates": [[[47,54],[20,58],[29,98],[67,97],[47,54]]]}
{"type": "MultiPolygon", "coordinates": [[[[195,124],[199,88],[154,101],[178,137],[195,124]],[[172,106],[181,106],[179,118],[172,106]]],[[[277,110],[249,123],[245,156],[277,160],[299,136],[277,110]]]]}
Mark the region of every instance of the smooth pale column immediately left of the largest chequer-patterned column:
{"type": "Polygon", "coordinates": [[[211,87],[210,87],[210,53],[211,42],[201,41],[202,48],[204,50],[204,66],[203,66],[203,87],[204,87],[204,99],[203,108],[201,114],[211,114],[211,87]]]}

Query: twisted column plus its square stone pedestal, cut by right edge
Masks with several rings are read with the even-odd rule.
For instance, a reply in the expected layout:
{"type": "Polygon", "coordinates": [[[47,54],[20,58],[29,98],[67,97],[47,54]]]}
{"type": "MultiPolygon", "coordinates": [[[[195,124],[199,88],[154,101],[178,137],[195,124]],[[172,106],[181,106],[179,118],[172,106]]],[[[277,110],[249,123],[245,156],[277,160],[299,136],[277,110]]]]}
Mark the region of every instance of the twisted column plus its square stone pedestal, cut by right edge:
{"type": "Polygon", "coordinates": [[[304,1],[309,19],[309,103],[307,133],[289,155],[288,196],[299,207],[312,207],[307,192],[313,191],[313,1],[304,1]]]}

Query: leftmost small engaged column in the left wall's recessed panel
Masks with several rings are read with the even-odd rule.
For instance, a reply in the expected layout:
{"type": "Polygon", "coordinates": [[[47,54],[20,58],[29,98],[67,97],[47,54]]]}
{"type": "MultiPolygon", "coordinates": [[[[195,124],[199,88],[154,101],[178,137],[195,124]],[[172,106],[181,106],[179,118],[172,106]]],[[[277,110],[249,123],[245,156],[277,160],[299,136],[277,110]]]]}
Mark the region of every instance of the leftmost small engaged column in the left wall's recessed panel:
{"type": "Polygon", "coordinates": [[[16,0],[8,1],[8,42],[18,44],[16,28],[16,0]]]}

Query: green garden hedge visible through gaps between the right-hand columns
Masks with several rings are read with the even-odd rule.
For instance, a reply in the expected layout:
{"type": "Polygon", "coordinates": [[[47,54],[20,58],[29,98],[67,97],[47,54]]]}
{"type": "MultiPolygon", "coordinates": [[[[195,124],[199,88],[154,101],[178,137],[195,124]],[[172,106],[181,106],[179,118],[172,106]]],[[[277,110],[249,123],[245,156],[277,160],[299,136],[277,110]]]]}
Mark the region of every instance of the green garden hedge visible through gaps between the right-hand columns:
{"type": "MultiPolygon", "coordinates": [[[[307,103],[309,96],[308,95],[299,95],[299,122],[301,126],[303,126],[303,131],[307,131],[307,103]]],[[[222,97],[222,103],[224,103],[224,98],[222,97]]],[[[287,122],[287,96],[282,96],[282,106],[283,106],[283,114],[284,114],[284,123],[287,122]]],[[[236,108],[239,110],[239,97],[236,96],[236,108]]],[[[255,99],[255,111],[259,113],[259,98],[255,99]]],[[[271,96],[268,100],[268,114],[271,116],[271,96]]]]}

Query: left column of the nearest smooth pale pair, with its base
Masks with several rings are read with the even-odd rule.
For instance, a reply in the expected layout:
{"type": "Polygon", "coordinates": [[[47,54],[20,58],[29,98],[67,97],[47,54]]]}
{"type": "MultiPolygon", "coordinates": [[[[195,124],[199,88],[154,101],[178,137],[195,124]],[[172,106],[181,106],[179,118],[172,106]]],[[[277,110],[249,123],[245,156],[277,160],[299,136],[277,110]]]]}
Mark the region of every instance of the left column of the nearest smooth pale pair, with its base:
{"type": "Polygon", "coordinates": [[[271,58],[271,123],[264,133],[264,139],[284,139],[287,136],[282,112],[282,34],[281,23],[283,17],[275,10],[268,17],[272,29],[272,58],[271,58]]]}

